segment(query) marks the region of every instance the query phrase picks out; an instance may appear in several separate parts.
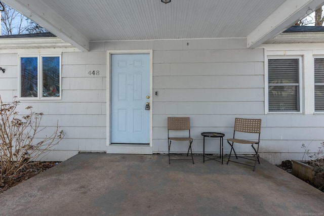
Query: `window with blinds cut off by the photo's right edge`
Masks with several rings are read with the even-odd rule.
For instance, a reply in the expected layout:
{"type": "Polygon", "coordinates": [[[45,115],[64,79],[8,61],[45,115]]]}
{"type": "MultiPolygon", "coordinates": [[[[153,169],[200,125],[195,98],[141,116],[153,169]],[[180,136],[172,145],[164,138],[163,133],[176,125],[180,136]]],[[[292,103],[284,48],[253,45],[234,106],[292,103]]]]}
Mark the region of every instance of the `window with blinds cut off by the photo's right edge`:
{"type": "Polygon", "coordinates": [[[324,112],[324,58],[314,59],[315,112],[324,112]]]}

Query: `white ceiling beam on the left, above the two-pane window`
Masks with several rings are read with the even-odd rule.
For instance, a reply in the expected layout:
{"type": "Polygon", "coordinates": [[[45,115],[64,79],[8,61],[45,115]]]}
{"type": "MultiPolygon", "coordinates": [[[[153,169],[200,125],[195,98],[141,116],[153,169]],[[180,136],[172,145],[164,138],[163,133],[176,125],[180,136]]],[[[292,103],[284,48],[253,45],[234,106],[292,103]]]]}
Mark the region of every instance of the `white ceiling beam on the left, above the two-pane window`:
{"type": "Polygon", "coordinates": [[[80,51],[90,50],[90,40],[41,0],[5,0],[6,4],[25,15],[80,51]]]}

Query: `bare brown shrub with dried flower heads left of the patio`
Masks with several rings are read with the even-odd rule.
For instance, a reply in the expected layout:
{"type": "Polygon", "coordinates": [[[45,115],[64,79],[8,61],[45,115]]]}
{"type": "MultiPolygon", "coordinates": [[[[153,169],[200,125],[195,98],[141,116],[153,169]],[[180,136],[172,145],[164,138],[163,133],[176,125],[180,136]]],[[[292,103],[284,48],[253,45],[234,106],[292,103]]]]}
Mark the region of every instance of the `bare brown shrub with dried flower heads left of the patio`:
{"type": "Polygon", "coordinates": [[[19,115],[19,103],[4,103],[0,97],[0,185],[5,179],[13,179],[27,164],[41,160],[64,137],[57,123],[53,134],[39,138],[46,128],[40,127],[43,113],[35,113],[28,106],[28,114],[19,115]]]}

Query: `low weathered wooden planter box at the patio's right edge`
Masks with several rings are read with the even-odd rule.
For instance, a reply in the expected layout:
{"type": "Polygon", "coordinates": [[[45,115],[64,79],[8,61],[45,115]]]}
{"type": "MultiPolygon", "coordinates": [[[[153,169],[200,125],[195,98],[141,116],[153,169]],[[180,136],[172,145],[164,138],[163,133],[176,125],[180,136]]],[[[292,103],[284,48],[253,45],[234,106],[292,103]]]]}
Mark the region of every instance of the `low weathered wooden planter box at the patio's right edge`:
{"type": "Polygon", "coordinates": [[[315,171],[315,168],[305,162],[292,160],[293,175],[297,178],[312,183],[315,187],[322,189],[324,187],[324,174],[315,171]]]}

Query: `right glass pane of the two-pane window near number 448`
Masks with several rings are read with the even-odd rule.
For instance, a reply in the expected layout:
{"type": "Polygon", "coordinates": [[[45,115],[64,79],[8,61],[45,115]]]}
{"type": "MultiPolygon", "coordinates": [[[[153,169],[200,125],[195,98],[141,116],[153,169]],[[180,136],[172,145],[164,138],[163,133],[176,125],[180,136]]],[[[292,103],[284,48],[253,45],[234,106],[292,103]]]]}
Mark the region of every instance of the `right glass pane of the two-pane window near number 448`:
{"type": "Polygon", "coordinates": [[[60,57],[42,57],[43,97],[60,97],[60,57]]]}

